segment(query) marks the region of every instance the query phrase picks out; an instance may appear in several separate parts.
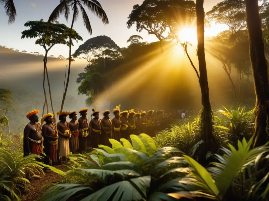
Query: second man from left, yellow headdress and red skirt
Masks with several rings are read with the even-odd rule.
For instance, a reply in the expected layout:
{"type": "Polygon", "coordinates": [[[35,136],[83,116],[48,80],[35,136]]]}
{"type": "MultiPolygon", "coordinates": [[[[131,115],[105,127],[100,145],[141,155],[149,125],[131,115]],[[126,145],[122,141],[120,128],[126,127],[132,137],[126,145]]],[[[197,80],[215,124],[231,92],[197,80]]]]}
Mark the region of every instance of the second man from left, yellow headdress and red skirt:
{"type": "Polygon", "coordinates": [[[58,150],[58,130],[56,124],[53,122],[53,114],[45,114],[41,118],[41,125],[43,122],[46,123],[42,126],[42,135],[44,137],[44,152],[46,154],[45,164],[53,165],[57,159],[58,150]]]}

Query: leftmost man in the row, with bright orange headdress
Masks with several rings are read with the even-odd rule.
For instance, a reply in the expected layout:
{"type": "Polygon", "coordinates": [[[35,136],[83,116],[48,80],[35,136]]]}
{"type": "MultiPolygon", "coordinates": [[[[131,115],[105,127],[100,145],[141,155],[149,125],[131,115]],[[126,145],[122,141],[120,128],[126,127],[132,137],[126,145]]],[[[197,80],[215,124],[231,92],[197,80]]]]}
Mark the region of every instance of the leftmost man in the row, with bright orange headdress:
{"type": "Polygon", "coordinates": [[[32,110],[26,115],[30,122],[26,124],[23,131],[23,157],[43,153],[43,137],[41,124],[38,122],[38,113],[39,110],[32,110]]]}

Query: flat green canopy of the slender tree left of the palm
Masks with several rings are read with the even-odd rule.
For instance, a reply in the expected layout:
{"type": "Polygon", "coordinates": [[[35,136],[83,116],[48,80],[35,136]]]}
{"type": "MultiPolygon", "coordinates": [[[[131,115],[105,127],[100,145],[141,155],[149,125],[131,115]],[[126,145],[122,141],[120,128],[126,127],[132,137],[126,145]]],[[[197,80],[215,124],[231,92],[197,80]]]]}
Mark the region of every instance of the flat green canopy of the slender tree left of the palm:
{"type": "MultiPolygon", "coordinates": [[[[45,50],[49,51],[55,44],[64,44],[69,46],[70,28],[64,24],[44,22],[43,19],[39,21],[27,21],[24,27],[29,29],[22,32],[23,38],[38,38],[36,44],[42,46],[45,50]]],[[[72,30],[72,39],[82,41],[82,37],[72,30]]],[[[73,43],[71,44],[72,46],[73,43]]]]}

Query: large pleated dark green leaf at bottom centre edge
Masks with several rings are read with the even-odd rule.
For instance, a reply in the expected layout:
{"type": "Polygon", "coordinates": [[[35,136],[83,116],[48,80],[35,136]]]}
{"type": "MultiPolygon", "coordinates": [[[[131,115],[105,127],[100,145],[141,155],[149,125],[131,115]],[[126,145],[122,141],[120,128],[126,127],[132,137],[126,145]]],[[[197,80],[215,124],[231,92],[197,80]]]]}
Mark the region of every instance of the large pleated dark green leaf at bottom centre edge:
{"type": "Polygon", "coordinates": [[[150,176],[138,177],[111,184],[80,201],[146,201],[149,187],[150,176]]]}

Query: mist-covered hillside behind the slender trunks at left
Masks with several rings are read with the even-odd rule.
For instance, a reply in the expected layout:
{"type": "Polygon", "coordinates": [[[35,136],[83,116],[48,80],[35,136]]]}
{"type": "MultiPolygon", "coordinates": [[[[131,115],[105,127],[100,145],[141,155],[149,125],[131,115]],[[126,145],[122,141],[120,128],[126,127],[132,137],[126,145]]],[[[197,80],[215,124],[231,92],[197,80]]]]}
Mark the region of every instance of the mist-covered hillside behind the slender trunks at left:
{"type": "MultiPolygon", "coordinates": [[[[0,88],[12,91],[14,96],[15,108],[13,110],[16,111],[16,115],[12,114],[14,111],[7,115],[11,126],[27,123],[25,115],[30,110],[39,109],[40,116],[42,115],[44,104],[43,58],[43,56],[20,53],[0,47],[0,88]],[[16,120],[16,118],[19,119],[16,120]]],[[[47,68],[55,112],[61,106],[67,64],[66,60],[48,57],[47,68]]],[[[78,110],[85,106],[86,97],[77,94],[79,85],[76,83],[78,74],[83,72],[84,67],[85,65],[81,62],[80,65],[78,62],[72,62],[65,110],[78,110]]],[[[48,102],[50,102],[47,79],[45,87],[48,102]]],[[[49,112],[51,112],[50,104],[49,112]]]]}

